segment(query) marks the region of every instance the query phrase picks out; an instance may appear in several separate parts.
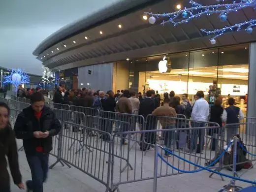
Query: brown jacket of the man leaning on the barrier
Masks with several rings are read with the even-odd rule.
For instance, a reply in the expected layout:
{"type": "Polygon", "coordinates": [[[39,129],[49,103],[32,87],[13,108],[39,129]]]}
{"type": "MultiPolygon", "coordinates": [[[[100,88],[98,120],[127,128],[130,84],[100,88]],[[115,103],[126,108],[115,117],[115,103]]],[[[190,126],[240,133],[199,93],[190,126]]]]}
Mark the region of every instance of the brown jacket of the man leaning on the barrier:
{"type": "Polygon", "coordinates": [[[177,113],[174,108],[169,107],[168,105],[163,105],[158,107],[153,111],[152,115],[154,116],[164,116],[163,118],[159,118],[160,124],[162,127],[173,126],[175,125],[176,121],[172,118],[167,117],[177,117],[177,113]]]}

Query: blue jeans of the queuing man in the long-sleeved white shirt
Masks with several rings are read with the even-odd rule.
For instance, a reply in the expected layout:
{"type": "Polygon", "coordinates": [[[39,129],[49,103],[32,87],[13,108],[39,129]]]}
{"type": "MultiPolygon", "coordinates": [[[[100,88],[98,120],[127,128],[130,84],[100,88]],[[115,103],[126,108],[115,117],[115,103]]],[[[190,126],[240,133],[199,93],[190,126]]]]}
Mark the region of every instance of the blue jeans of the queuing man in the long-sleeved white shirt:
{"type": "MultiPolygon", "coordinates": [[[[205,127],[205,122],[192,122],[192,128],[203,128],[205,127]]],[[[193,129],[191,135],[191,143],[192,143],[192,150],[196,149],[196,153],[201,153],[204,145],[204,135],[205,129],[193,129]],[[198,138],[198,145],[197,145],[197,138],[198,138]]]]}

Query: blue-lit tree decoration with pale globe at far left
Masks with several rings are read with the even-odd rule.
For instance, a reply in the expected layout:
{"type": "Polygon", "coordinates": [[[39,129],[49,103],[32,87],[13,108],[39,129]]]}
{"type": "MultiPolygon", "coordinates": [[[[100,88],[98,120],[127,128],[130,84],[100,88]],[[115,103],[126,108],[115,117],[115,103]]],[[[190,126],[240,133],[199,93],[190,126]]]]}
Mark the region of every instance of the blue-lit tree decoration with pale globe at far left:
{"type": "Polygon", "coordinates": [[[30,76],[22,69],[8,69],[9,74],[3,76],[3,83],[10,83],[15,86],[15,90],[18,90],[20,84],[30,83],[30,76]]]}

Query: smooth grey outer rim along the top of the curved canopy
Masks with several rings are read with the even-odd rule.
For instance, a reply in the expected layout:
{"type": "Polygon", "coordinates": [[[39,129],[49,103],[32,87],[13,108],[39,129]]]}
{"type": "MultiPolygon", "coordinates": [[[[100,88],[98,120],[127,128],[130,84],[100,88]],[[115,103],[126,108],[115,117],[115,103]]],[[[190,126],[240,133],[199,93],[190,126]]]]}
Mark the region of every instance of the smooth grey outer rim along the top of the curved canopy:
{"type": "Polygon", "coordinates": [[[66,38],[69,38],[70,36],[106,23],[114,18],[124,16],[152,3],[156,3],[156,1],[159,2],[161,0],[120,0],[115,4],[105,7],[102,10],[92,13],[90,16],[86,16],[78,21],[74,21],[57,32],[52,33],[36,47],[33,51],[33,55],[38,56],[46,49],[66,38]]]}

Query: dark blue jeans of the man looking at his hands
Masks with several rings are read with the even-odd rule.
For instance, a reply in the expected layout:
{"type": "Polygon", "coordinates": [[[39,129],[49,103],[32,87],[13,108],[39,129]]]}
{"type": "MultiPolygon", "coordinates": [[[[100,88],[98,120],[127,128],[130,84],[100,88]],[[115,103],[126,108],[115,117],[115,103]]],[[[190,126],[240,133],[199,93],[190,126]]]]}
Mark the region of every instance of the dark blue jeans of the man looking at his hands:
{"type": "Polygon", "coordinates": [[[33,192],[43,192],[43,183],[47,179],[49,154],[36,152],[26,155],[31,169],[32,181],[27,181],[27,187],[33,192]]]}

